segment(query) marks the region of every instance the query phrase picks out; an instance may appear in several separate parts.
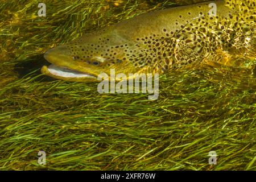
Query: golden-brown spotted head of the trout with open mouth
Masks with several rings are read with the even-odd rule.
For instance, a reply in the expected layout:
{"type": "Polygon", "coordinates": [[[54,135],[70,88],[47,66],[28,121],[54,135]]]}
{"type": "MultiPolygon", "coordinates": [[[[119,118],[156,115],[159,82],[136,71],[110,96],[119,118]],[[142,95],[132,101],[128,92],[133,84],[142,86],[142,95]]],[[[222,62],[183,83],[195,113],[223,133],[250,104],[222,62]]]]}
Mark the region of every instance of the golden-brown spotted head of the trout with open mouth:
{"type": "Polygon", "coordinates": [[[101,73],[110,76],[111,69],[128,75],[137,72],[131,58],[132,46],[118,36],[86,35],[49,49],[44,58],[52,65],[41,71],[60,80],[81,82],[96,82],[101,73]]]}

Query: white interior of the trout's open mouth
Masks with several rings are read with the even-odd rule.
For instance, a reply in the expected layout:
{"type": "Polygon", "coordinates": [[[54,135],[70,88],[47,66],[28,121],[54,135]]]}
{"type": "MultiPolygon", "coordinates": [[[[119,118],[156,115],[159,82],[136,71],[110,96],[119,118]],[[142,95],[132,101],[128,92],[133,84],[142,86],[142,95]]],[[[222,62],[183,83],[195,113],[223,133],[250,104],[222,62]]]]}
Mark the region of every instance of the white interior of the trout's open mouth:
{"type": "Polygon", "coordinates": [[[72,69],[57,67],[54,64],[49,65],[48,71],[52,75],[66,77],[66,78],[93,77],[92,75],[75,71],[72,69]]]}

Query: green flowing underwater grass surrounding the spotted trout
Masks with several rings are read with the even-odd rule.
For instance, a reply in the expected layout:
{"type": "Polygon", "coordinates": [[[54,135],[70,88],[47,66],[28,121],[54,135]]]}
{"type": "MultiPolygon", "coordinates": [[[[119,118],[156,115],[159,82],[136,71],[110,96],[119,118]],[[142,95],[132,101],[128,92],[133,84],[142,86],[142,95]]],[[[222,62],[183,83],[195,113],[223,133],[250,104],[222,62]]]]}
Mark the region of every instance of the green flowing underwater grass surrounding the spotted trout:
{"type": "Polygon", "coordinates": [[[46,18],[36,16],[36,1],[0,6],[0,170],[256,169],[255,63],[172,71],[160,76],[156,101],[99,94],[95,83],[40,75],[42,54],[177,2],[45,2],[46,18]],[[208,164],[209,151],[217,152],[216,165],[208,164]]]}

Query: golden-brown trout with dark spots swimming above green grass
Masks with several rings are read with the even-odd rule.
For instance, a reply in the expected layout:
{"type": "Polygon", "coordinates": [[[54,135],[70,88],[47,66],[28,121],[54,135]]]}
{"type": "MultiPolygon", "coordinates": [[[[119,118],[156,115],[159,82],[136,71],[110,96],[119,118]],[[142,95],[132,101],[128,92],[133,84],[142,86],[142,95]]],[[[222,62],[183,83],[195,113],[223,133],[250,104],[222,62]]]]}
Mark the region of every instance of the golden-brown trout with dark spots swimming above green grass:
{"type": "Polygon", "coordinates": [[[97,81],[101,73],[164,73],[193,63],[255,61],[253,0],[226,0],[174,7],[123,20],[49,49],[44,75],[97,81]],[[214,4],[213,4],[214,3],[214,4]],[[211,9],[216,5],[216,14],[211,9]]]}

